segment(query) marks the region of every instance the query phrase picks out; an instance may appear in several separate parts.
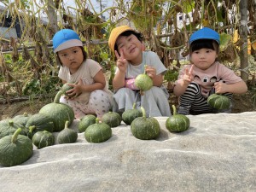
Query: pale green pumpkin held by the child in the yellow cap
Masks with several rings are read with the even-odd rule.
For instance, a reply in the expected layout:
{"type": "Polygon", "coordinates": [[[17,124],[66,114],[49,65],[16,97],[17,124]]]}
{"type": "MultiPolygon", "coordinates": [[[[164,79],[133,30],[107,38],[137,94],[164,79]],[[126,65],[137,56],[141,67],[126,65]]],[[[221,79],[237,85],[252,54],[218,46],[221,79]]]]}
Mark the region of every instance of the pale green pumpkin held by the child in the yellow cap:
{"type": "MultiPolygon", "coordinates": [[[[145,65],[145,68],[147,65],[145,65]]],[[[137,86],[139,90],[141,90],[141,94],[143,95],[143,91],[150,90],[153,86],[153,80],[148,76],[146,70],[144,70],[143,74],[137,75],[134,84],[137,86]]]]}

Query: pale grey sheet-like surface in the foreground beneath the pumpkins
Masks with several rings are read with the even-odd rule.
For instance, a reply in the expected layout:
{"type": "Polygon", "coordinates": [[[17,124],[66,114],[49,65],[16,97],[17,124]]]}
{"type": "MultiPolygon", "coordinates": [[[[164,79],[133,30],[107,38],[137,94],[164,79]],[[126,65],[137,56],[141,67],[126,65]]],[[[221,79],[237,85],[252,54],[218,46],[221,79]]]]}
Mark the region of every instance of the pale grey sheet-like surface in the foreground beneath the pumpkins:
{"type": "Polygon", "coordinates": [[[155,140],[122,124],[104,143],[79,133],[77,143],[34,148],[22,165],[0,166],[0,191],[256,191],[256,112],[188,117],[182,133],[157,118],[155,140]]]}

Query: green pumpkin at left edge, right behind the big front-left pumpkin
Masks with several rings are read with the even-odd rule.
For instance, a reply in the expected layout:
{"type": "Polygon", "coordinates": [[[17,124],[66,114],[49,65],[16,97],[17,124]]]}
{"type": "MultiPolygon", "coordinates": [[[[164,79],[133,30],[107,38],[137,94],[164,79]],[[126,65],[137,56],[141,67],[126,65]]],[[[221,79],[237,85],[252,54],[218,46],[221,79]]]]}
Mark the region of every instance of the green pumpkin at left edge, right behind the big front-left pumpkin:
{"type": "Polygon", "coordinates": [[[17,124],[13,119],[3,119],[0,121],[0,139],[13,135],[15,131],[21,128],[20,135],[26,135],[25,127],[23,125],[17,124]]]}

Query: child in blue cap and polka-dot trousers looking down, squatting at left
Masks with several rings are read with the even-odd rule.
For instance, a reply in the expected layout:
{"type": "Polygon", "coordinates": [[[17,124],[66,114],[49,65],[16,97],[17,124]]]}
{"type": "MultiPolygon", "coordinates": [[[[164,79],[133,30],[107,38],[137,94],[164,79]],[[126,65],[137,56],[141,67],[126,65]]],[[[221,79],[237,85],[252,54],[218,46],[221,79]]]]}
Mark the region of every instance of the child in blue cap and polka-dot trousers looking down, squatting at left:
{"type": "Polygon", "coordinates": [[[79,35],[71,29],[55,33],[53,49],[61,63],[59,78],[73,87],[60,102],[73,108],[76,119],[91,113],[101,119],[112,108],[112,92],[100,64],[87,58],[79,35]]]}

